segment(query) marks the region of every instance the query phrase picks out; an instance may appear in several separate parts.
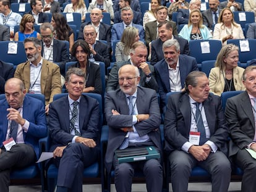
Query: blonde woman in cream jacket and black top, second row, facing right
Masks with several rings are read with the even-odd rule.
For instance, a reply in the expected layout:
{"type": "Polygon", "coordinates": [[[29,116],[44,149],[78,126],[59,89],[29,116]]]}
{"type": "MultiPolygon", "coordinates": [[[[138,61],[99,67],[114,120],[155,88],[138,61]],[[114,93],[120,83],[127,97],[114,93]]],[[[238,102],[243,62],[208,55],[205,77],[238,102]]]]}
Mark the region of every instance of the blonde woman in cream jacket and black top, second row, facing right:
{"type": "Polygon", "coordinates": [[[244,69],[237,66],[239,61],[238,47],[234,44],[226,44],[221,48],[215,67],[209,75],[210,91],[218,96],[225,91],[244,90],[242,73],[244,69]]]}

